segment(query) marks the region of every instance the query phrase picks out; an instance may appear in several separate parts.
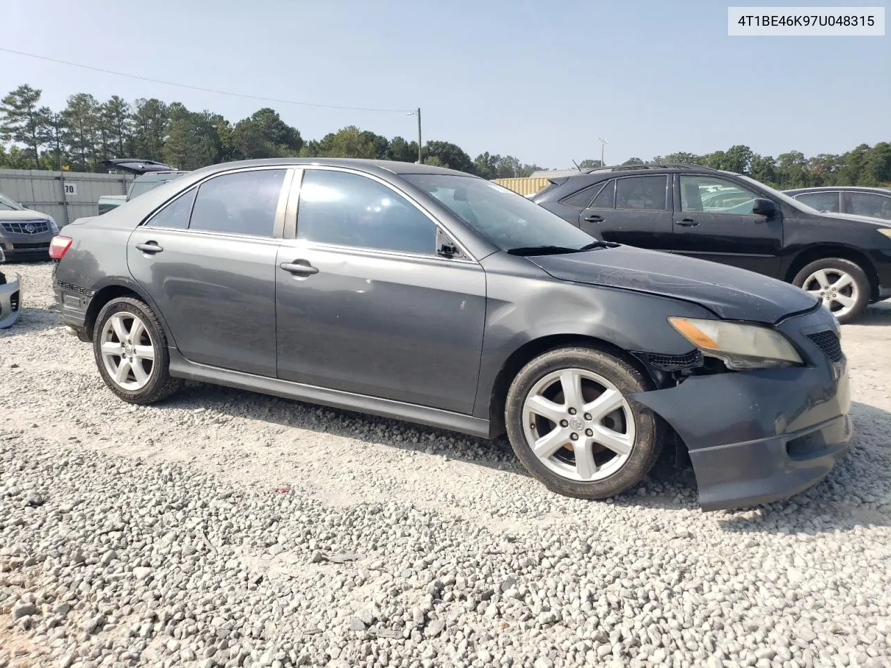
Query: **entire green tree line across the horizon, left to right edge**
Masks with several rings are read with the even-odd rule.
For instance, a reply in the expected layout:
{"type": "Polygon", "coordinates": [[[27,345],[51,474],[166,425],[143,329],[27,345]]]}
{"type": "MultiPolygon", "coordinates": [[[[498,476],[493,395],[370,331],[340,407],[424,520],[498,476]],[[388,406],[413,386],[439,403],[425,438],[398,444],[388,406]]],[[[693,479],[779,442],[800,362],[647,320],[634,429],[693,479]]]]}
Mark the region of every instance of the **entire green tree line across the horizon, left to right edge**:
{"type": "MultiPolygon", "coordinates": [[[[296,127],[265,107],[231,123],[208,110],[192,111],[181,102],[118,95],[99,102],[91,94],[71,95],[63,110],[40,105],[41,91],[19,86],[0,102],[0,168],[60,169],[102,172],[107,158],[159,160],[180,169],[255,158],[373,158],[415,162],[418,143],[388,139],[357,126],[340,128],[319,140],[305,141],[296,127]]],[[[541,169],[511,155],[480,153],[470,159],[451,142],[429,141],[422,147],[429,165],[452,167],[487,179],[528,176],[541,169]]],[[[632,158],[625,165],[692,163],[749,175],[777,188],[891,183],[891,143],[861,144],[843,154],[806,158],[800,151],[776,158],[758,155],[738,144],[727,151],[698,155],[676,152],[650,160],[632,158]]],[[[600,167],[584,159],[578,167],[600,167]]]]}

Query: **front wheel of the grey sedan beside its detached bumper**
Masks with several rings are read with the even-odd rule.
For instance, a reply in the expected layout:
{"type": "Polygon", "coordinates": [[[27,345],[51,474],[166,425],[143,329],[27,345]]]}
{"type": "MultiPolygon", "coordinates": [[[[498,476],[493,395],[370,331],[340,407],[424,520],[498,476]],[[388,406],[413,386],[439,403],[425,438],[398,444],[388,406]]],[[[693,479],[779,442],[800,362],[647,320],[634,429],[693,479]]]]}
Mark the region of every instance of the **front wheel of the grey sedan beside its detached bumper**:
{"type": "Polygon", "coordinates": [[[552,492],[591,500],[625,492],[650,472],[662,443],[657,416],[626,398],[650,388],[641,371],[599,350],[541,354],[508,390],[513,452],[552,492]]]}

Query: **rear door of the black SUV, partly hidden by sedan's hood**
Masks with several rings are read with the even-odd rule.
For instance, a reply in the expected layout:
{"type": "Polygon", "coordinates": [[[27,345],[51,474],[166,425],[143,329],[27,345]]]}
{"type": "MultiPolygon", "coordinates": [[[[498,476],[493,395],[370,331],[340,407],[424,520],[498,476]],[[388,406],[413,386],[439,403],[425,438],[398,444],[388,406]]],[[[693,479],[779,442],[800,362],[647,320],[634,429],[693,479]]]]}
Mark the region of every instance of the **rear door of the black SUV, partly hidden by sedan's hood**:
{"type": "Polygon", "coordinates": [[[671,189],[668,176],[610,179],[578,216],[578,226],[593,237],[638,248],[670,248],[671,189]]]}

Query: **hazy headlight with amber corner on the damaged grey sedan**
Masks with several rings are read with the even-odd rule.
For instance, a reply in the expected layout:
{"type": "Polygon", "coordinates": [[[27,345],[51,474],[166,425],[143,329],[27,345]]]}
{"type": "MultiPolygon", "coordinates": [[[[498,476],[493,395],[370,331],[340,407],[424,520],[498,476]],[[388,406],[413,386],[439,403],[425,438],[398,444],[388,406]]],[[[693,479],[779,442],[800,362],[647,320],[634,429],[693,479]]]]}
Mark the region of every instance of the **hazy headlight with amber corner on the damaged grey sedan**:
{"type": "Polygon", "coordinates": [[[717,357],[734,371],[803,363],[788,338],[762,325],[693,318],[669,318],[668,322],[702,354],[717,357]]]}

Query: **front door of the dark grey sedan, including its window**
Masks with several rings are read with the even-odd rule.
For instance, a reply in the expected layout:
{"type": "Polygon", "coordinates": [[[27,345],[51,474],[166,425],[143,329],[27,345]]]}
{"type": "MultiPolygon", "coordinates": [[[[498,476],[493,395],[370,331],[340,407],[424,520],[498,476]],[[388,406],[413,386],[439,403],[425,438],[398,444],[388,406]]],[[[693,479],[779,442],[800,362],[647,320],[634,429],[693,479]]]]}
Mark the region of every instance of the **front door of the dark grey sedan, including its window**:
{"type": "Polygon", "coordinates": [[[482,267],[438,255],[454,240],[372,175],[309,167],[294,199],[276,271],[279,378],[470,413],[482,267]]]}

